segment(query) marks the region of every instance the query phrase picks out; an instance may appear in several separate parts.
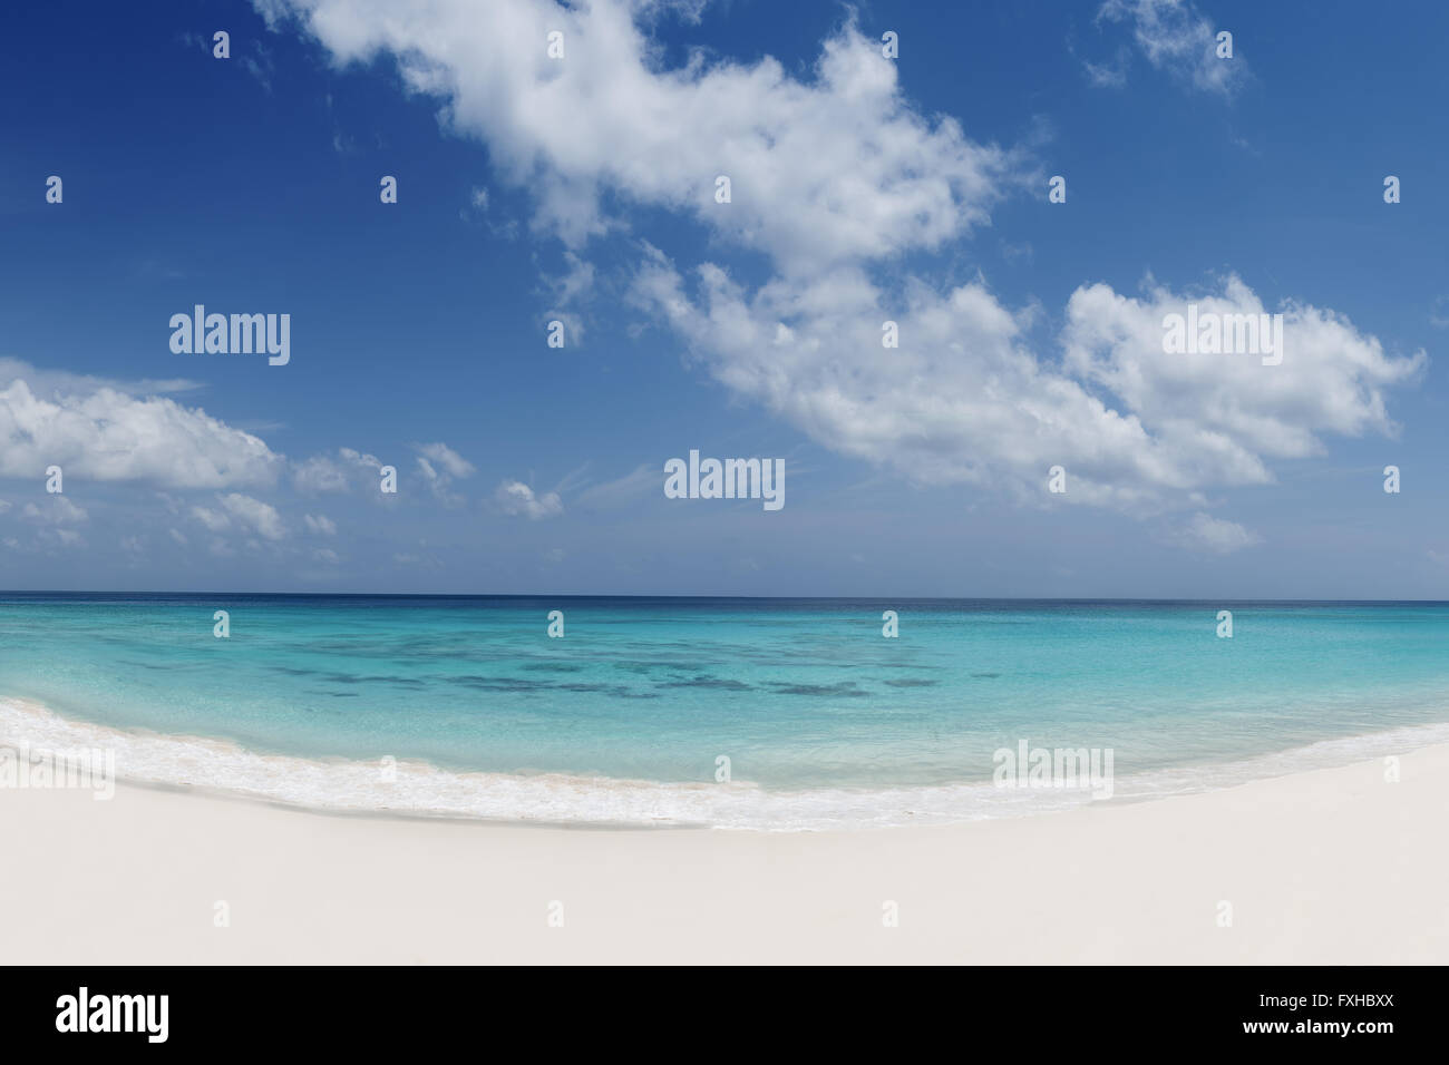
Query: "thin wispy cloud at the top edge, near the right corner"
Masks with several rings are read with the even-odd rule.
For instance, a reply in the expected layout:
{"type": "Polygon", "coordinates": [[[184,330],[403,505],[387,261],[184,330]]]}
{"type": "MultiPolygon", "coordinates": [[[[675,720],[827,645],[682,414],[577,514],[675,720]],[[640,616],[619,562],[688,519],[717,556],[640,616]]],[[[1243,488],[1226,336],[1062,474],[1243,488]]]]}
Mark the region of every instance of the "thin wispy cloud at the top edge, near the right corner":
{"type": "MultiPolygon", "coordinates": [[[[1107,0],[1098,9],[1097,19],[1130,23],[1132,38],[1148,62],[1194,88],[1230,97],[1248,77],[1246,62],[1237,55],[1236,39],[1233,58],[1220,59],[1217,28],[1190,0],[1107,0]]],[[[1120,84],[1113,81],[1114,75],[1126,80],[1119,70],[1093,71],[1088,64],[1088,74],[1097,84],[1120,84]]]]}

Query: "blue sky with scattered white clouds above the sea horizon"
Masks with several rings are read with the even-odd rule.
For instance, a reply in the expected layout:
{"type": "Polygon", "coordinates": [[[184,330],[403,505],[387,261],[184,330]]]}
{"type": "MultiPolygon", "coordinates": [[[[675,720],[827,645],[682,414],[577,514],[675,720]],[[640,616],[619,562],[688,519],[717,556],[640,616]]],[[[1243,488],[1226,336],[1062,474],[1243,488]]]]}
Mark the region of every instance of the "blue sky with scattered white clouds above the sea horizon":
{"type": "Polygon", "coordinates": [[[1449,598],[1442,4],[7,29],[0,587],[1449,598]],[[1188,301],[1282,365],[1165,354],[1188,301]],[[172,352],[199,303],[290,364],[172,352]],[[691,449],[785,506],[665,498],[691,449]]]}

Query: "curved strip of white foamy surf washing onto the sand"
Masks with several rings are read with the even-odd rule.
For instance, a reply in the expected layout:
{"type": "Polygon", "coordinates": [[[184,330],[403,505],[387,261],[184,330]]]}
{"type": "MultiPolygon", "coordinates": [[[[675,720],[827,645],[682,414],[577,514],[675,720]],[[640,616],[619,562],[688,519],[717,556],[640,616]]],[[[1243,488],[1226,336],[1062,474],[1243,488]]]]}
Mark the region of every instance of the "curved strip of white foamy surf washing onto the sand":
{"type": "MultiPolygon", "coordinates": [[[[429,762],[303,758],[229,739],[120,729],[0,697],[0,748],[119,753],[114,784],[249,801],[320,816],[538,827],[867,832],[1040,817],[1211,794],[1262,780],[1340,768],[1449,743],[1449,723],[1397,726],[1223,762],[1119,777],[1110,798],[1087,787],[995,787],[990,781],[881,788],[768,790],[749,781],[659,782],[558,772],[464,772],[429,762]],[[17,735],[20,733],[20,735],[17,735]],[[38,739],[39,738],[39,739],[38,739]],[[888,810],[890,813],[881,813],[888,810]],[[523,813],[520,813],[523,811],[523,813]],[[809,811],[809,813],[807,813],[809,811]],[[613,816],[607,816],[611,813],[613,816]]],[[[0,781],[0,791],[4,790],[0,781]]]]}

